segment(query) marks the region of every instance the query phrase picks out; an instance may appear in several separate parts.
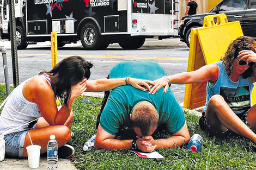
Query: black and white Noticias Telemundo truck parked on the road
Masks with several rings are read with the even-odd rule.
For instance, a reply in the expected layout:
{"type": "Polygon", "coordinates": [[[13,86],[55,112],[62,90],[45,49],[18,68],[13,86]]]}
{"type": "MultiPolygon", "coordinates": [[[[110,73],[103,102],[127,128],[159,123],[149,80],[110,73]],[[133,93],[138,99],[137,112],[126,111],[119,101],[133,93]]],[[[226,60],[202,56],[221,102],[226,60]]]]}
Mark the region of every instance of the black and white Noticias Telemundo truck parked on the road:
{"type": "MultiPolygon", "coordinates": [[[[2,1],[2,39],[10,39],[8,0],[2,1]]],[[[81,40],[85,49],[118,42],[139,48],[145,38],[178,35],[179,0],[14,0],[17,48],[50,41],[58,47],[81,40]]]]}

